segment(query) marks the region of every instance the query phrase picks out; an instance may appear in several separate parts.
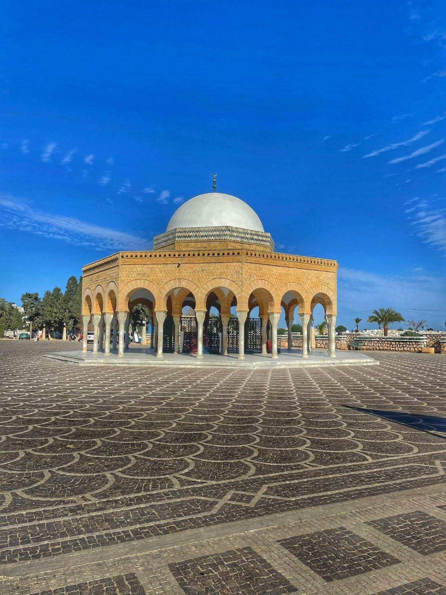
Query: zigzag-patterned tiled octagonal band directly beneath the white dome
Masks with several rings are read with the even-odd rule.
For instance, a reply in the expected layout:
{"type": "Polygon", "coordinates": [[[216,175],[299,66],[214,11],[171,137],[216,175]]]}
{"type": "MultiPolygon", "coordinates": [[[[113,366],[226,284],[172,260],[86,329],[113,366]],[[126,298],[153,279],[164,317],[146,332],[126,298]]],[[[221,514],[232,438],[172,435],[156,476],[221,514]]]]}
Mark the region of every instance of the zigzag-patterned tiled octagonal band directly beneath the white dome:
{"type": "Polygon", "coordinates": [[[268,246],[274,250],[271,234],[241,227],[175,227],[153,237],[153,249],[158,250],[174,242],[200,242],[200,240],[232,240],[246,244],[268,246]]]}

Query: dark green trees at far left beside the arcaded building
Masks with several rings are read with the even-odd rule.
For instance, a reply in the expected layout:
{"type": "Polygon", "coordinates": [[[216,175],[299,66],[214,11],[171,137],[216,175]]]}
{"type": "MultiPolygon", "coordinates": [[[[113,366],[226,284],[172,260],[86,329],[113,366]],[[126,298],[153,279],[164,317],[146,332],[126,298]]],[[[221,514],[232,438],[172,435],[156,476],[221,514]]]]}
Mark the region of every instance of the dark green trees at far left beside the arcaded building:
{"type": "Polygon", "coordinates": [[[18,308],[0,297],[0,337],[6,330],[23,330],[28,328],[30,335],[33,330],[40,329],[45,324],[48,330],[62,334],[64,323],[67,332],[74,331],[82,317],[82,277],[77,280],[71,276],[65,292],[60,287],[47,289],[40,298],[38,293],[26,292],[21,296],[23,314],[18,308]]]}

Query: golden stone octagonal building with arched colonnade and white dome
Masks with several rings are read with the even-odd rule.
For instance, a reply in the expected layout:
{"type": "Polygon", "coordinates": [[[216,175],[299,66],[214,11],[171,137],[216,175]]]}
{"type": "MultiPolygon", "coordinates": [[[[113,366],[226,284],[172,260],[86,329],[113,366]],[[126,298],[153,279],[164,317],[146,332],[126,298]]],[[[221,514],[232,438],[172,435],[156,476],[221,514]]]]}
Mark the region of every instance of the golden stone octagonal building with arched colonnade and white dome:
{"type": "Polygon", "coordinates": [[[195,196],[175,211],[165,233],[153,238],[153,250],[118,252],[83,267],[83,350],[93,317],[93,352],[110,353],[111,328],[115,350],[119,327],[117,355],[123,356],[130,311],[144,303],[152,321],[150,346],[159,358],[180,350],[203,358],[204,345],[205,353],[237,350],[243,359],[246,350],[265,354],[267,337],[271,357],[277,358],[282,306],[289,339],[294,317],[300,317],[307,358],[312,312],[320,303],[334,357],[337,268],[333,260],[275,252],[255,211],[235,196],[195,196]],[[184,317],[184,306],[191,306],[195,317],[184,317]],[[212,306],[219,318],[209,315],[212,306]],[[259,317],[253,320],[256,307],[259,317]]]}

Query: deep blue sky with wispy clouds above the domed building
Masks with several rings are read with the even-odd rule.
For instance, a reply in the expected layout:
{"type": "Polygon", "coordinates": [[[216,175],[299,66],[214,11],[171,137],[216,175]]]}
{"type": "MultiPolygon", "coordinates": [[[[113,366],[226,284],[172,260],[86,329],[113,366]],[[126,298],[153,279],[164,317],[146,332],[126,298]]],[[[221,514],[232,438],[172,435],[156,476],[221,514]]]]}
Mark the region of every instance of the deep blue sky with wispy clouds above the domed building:
{"type": "Polygon", "coordinates": [[[0,51],[1,296],[146,248],[217,171],[338,260],[340,324],[444,327],[444,2],[7,0],[0,51]]]}

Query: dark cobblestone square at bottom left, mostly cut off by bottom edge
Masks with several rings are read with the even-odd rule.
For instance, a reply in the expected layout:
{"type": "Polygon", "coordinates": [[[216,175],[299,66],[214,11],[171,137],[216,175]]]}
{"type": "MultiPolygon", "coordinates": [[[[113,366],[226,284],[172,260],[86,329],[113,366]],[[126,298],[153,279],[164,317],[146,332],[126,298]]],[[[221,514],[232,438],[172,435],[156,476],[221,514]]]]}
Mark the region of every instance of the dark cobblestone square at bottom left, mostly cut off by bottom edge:
{"type": "Polygon", "coordinates": [[[116,577],[99,578],[55,589],[45,589],[31,595],[146,595],[142,584],[133,572],[116,577]]]}

